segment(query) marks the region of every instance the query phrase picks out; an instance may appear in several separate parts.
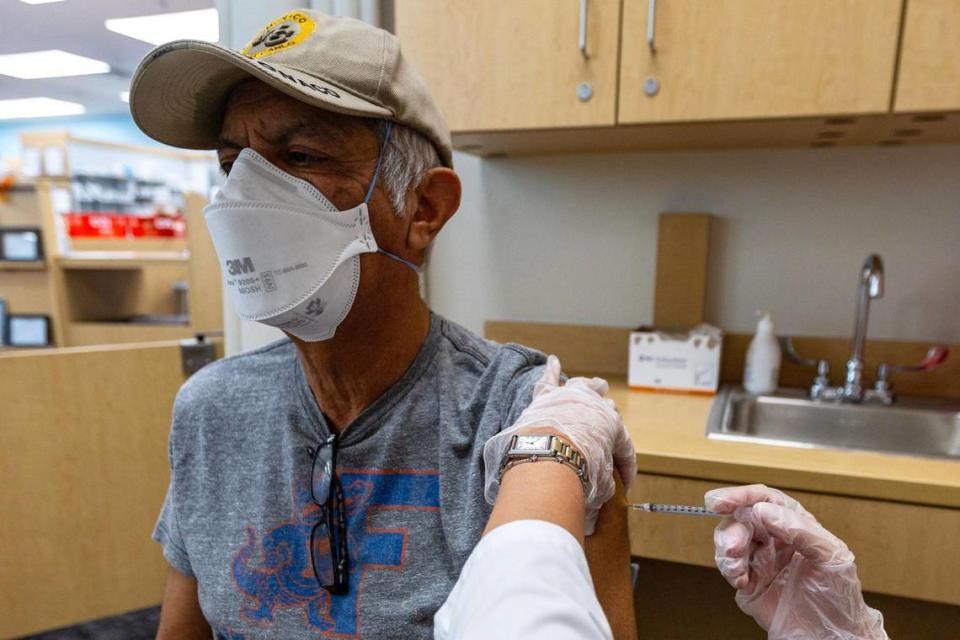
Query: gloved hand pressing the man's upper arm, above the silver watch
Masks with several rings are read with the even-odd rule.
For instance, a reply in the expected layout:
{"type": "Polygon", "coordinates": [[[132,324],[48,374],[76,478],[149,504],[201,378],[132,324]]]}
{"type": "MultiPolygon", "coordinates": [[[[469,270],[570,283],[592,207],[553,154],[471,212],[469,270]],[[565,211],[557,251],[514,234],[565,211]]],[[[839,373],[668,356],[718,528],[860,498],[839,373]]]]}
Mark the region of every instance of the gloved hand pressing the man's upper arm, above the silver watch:
{"type": "Polygon", "coordinates": [[[607,382],[601,378],[570,378],[560,384],[560,360],[547,358],[543,375],[533,388],[533,401],[509,429],[487,441],[483,448],[486,468],[484,495],[493,504],[500,489],[497,473],[518,432],[534,427],[552,427],[570,441],[583,459],[585,468],[586,521],[584,533],[591,535],[600,507],[613,497],[614,467],[623,480],[624,491],[637,475],[637,459],[630,434],[613,400],[604,398],[607,382]]]}

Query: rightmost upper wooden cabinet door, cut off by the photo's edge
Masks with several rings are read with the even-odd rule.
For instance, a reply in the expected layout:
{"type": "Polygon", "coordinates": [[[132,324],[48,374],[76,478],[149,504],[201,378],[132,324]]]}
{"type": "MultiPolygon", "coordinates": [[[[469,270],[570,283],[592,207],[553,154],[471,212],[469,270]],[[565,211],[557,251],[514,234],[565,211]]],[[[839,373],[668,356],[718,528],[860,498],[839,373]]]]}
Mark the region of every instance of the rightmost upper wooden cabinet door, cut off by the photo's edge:
{"type": "Polygon", "coordinates": [[[960,109],[960,0],[907,0],[895,111],[960,109]]]}

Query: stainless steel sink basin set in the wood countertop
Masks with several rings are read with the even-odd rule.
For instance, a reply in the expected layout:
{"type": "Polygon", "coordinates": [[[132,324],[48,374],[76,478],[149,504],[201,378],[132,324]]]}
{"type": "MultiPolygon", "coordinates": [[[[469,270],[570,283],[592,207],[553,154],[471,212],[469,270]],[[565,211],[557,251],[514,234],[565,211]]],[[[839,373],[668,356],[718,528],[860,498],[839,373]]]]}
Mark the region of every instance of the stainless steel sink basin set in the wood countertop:
{"type": "Polygon", "coordinates": [[[899,397],[892,406],[814,401],[802,389],[754,396],[728,387],[713,401],[707,437],[960,460],[960,403],[899,397]]]}

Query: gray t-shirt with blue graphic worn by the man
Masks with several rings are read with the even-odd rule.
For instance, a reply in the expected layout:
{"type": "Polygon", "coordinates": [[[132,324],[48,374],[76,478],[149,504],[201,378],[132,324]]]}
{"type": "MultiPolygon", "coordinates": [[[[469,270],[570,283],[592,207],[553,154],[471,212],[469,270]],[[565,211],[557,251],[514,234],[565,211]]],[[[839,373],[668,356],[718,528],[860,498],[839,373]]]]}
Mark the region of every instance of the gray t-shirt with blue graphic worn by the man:
{"type": "Polygon", "coordinates": [[[153,537],[197,579],[215,637],[432,637],[490,514],[483,445],[529,404],[545,362],[431,315],[409,369],[338,440],[350,558],[340,596],[318,586],[310,560],[312,450],[330,429],[293,344],[190,378],[153,537]]]}

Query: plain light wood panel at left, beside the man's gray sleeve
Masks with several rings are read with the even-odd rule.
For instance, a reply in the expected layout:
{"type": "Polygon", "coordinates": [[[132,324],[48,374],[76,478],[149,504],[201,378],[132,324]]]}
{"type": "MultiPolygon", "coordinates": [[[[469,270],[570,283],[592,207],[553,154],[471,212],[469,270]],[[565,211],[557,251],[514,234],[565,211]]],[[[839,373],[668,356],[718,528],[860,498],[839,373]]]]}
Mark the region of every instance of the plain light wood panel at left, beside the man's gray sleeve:
{"type": "Polygon", "coordinates": [[[153,606],[178,342],[0,354],[0,638],[153,606]]]}

